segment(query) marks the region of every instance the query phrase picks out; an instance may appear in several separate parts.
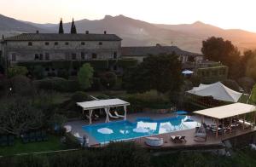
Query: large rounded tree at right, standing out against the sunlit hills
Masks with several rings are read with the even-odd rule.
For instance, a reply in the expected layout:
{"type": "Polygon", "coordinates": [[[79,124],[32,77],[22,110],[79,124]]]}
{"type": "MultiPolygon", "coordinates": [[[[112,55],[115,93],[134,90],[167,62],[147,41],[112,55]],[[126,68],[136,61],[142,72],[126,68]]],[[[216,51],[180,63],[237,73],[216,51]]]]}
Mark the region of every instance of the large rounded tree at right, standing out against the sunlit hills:
{"type": "Polygon", "coordinates": [[[229,76],[231,78],[240,77],[239,65],[240,52],[228,40],[222,37],[209,37],[202,42],[201,52],[207,60],[220,61],[225,66],[229,66],[229,76]]]}

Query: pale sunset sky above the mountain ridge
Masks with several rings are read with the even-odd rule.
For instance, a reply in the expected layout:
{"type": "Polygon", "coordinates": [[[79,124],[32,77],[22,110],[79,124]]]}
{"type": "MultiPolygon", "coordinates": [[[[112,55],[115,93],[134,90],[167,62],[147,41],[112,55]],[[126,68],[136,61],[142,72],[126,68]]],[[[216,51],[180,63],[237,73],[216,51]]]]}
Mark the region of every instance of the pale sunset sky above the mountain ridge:
{"type": "Polygon", "coordinates": [[[123,14],[162,24],[197,20],[224,29],[256,32],[255,0],[0,0],[0,14],[36,23],[99,20],[123,14]]]}

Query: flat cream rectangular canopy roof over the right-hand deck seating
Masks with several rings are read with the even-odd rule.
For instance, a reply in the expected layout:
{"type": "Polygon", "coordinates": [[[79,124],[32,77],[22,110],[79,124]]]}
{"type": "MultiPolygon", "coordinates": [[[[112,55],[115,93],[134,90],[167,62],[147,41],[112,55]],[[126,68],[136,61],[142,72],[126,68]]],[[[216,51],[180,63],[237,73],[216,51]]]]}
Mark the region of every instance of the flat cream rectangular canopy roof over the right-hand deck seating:
{"type": "Polygon", "coordinates": [[[248,112],[254,112],[255,110],[256,110],[256,107],[254,107],[253,105],[237,102],[237,103],[225,105],[222,107],[213,107],[205,110],[196,111],[194,113],[207,116],[210,118],[222,119],[222,118],[234,117],[236,115],[241,115],[248,112]]]}

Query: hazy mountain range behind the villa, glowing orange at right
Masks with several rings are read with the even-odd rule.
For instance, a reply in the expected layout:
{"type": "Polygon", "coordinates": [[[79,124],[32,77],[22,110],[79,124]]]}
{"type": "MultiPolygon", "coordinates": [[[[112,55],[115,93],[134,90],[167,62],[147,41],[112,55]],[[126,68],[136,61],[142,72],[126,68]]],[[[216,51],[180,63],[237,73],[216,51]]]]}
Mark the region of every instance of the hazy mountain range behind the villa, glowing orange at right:
{"type": "MultiPolygon", "coordinates": [[[[124,15],[106,15],[102,20],[75,21],[79,33],[117,34],[123,38],[123,46],[176,45],[181,49],[201,53],[201,42],[208,37],[223,37],[232,41],[241,51],[256,48],[256,33],[239,29],[225,30],[217,26],[196,21],[193,24],[164,25],[152,24],[143,20],[135,20],[124,15]]],[[[58,31],[57,24],[38,24],[24,20],[15,20],[0,14],[0,34],[13,36],[21,32],[58,31]]],[[[71,23],[64,23],[64,31],[70,32],[71,23]]]]}

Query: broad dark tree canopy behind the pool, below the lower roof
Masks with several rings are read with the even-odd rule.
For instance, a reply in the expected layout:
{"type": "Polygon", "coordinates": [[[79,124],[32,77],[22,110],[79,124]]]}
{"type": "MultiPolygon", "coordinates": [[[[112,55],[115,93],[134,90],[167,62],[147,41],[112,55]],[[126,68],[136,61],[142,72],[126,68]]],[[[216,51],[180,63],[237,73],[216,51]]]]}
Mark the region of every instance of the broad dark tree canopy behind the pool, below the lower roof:
{"type": "Polygon", "coordinates": [[[125,87],[130,92],[156,89],[160,93],[175,91],[183,82],[182,64],[178,56],[152,55],[125,74],[125,87]]]}

